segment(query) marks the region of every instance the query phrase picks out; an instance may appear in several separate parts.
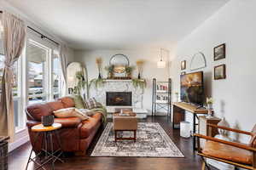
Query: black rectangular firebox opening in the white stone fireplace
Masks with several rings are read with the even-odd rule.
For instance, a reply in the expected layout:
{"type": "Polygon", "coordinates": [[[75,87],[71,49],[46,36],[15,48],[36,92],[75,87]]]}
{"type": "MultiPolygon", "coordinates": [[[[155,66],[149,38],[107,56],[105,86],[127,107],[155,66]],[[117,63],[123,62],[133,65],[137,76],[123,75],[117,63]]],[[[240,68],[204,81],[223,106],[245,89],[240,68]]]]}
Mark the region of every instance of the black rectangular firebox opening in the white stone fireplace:
{"type": "Polygon", "coordinates": [[[106,92],[107,106],[131,106],[132,93],[131,92],[106,92]]]}

